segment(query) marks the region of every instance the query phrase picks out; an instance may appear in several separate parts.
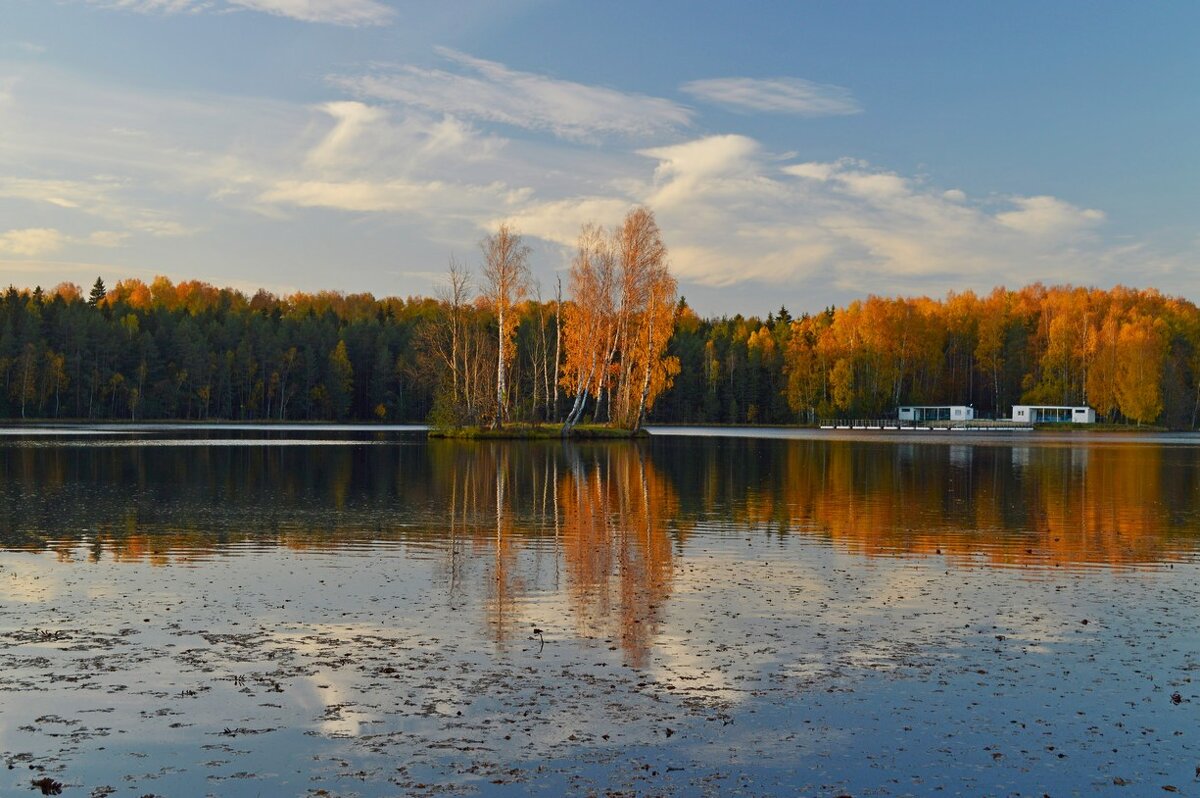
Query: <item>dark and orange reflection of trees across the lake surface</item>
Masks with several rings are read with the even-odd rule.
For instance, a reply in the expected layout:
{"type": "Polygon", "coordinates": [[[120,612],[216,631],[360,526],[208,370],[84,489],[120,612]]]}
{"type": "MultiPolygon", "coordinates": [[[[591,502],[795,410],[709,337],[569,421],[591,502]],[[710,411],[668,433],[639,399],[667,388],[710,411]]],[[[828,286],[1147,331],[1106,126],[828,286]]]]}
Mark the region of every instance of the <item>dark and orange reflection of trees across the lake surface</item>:
{"type": "Polygon", "coordinates": [[[528,636],[524,605],[557,601],[578,635],[635,666],[690,535],[805,535],[964,566],[1139,566],[1189,556],[1200,518],[1190,446],[84,443],[0,446],[5,547],[184,565],[244,547],[397,544],[438,562],[451,607],[486,586],[478,604],[498,644],[528,636]]]}

